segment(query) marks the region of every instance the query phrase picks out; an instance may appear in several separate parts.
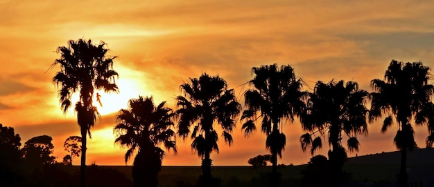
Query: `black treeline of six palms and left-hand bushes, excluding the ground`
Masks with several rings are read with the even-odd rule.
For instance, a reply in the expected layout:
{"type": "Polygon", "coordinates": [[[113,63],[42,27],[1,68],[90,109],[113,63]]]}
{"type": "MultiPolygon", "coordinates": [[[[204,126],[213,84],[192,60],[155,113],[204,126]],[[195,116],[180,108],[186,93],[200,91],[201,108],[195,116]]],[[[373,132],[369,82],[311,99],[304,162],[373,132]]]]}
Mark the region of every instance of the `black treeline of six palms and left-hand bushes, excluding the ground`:
{"type": "MultiPolygon", "coordinates": [[[[65,141],[65,150],[70,155],[63,160],[63,165],[71,165],[73,157],[81,155],[80,186],[89,185],[85,178],[90,175],[85,173],[86,139],[87,135],[90,137],[90,130],[99,115],[94,100],[101,104],[94,90],[118,92],[115,81],[118,74],[112,67],[116,57],[106,57],[105,46],[104,42],[94,46],[91,40],[69,41],[69,46],[58,48],[60,59],[55,60],[51,67],[60,66],[53,81],[59,86],[64,112],[72,105],[71,95],[75,92],[80,95],[74,110],[78,115],[81,137],[70,137],[65,141]]],[[[306,132],[300,137],[301,150],[309,150],[314,155],[315,150],[322,148],[323,141],[331,145],[328,159],[315,156],[309,162],[308,170],[304,171],[306,176],[303,179],[309,179],[309,175],[319,175],[312,174],[315,170],[327,170],[322,186],[340,186],[348,181],[342,166],[347,152],[359,150],[361,143],[357,136],[367,135],[368,122],[385,117],[382,132],[397,124],[393,141],[401,150],[398,175],[401,187],[407,186],[408,181],[407,150],[415,148],[412,126],[427,126],[430,135],[426,138],[426,146],[431,147],[434,142],[434,104],[431,100],[434,86],[429,83],[431,69],[423,66],[422,62],[392,60],[385,77],[372,80],[374,92],[358,88],[356,81],[344,80],[318,81],[313,92],[304,91],[304,81],[290,65],[253,67],[252,72],[254,77],[248,81],[243,98],[235,97],[234,89],[228,88],[223,77],[203,73],[180,86],[182,94],[176,97],[177,110],[167,108],[166,101],[154,104],[152,97],[130,99],[129,107],[119,111],[114,130],[115,142],[128,148],[125,162],[135,155],[132,167],[134,186],[158,186],[157,176],[166,154],[162,147],[176,153],[175,137],[193,139],[191,148],[202,159],[202,175],[198,176],[197,186],[220,186],[220,179],[211,173],[210,154],[219,153],[218,137],[223,137],[229,146],[232,144],[231,133],[238,119],[241,119],[246,137],[252,135],[259,128],[257,126],[266,135],[264,146],[270,152],[268,160],[272,170],[263,176],[269,186],[281,186],[282,173],[279,173],[277,159],[286,145],[286,135],[282,132],[282,126],[286,125],[284,121],[292,123],[300,119],[301,128],[306,132]],[[244,100],[244,105],[238,100],[244,100]],[[366,107],[367,102],[370,102],[370,108],[366,107]],[[223,132],[217,132],[216,126],[220,126],[223,132]],[[342,142],[344,138],[347,139],[346,146],[342,142]]],[[[7,176],[2,180],[4,184],[26,183],[39,176],[29,171],[21,175],[26,173],[19,171],[21,168],[37,168],[47,173],[58,170],[54,167],[55,158],[50,156],[53,149],[51,137],[35,137],[21,148],[19,135],[14,134],[13,128],[4,127],[3,130],[2,127],[1,133],[1,174],[7,176]],[[35,148],[41,153],[40,157],[35,156],[35,148]],[[31,166],[33,164],[37,166],[31,166]]],[[[76,177],[71,175],[64,180],[77,185],[76,177]]]]}

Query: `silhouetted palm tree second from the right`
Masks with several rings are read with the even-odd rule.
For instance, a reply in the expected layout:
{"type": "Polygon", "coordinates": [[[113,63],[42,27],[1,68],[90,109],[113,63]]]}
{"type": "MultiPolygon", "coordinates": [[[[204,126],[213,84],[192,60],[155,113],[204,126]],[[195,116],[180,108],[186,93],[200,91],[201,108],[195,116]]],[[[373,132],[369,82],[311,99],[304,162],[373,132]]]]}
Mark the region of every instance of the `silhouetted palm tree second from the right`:
{"type": "MultiPolygon", "coordinates": [[[[357,135],[367,135],[367,108],[365,99],[369,93],[358,88],[353,81],[329,83],[318,81],[309,94],[306,110],[300,116],[302,128],[308,133],[300,137],[302,150],[311,148],[311,154],[322,147],[321,137],[331,144],[329,161],[333,186],[338,186],[339,176],[347,151],[342,147],[342,136],[347,136],[349,151],[358,151],[357,135]],[[312,135],[318,135],[312,139],[312,135]]],[[[324,140],[325,141],[325,140],[324,140]]]]}

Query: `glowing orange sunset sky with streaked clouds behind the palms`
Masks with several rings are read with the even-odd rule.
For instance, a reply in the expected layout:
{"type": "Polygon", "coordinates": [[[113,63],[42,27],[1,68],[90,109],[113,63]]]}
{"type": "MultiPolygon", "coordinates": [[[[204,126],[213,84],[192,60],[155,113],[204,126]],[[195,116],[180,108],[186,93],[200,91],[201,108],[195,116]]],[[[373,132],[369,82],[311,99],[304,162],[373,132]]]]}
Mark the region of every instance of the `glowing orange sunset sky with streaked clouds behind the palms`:
{"type": "MultiPolygon", "coordinates": [[[[51,82],[58,68],[46,72],[59,57],[56,48],[69,39],[103,40],[109,55],[119,56],[114,69],[121,92],[103,95],[87,164],[125,164],[126,150],[113,143],[112,129],[114,112],[128,99],[153,95],[174,106],[180,84],[202,72],[220,75],[239,93],[239,85],[252,79],[252,67],[290,64],[309,84],[306,90],[318,80],[344,79],[372,91],[370,80],[382,78],[391,59],[434,67],[434,1],[0,0],[0,12],[0,123],[14,127],[22,144],[50,135],[58,160],[66,154],[63,141],[80,132],[73,111],[60,110],[51,82]]],[[[396,150],[396,126],[384,135],[380,128],[369,125],[358,155],[396,150]]],[[[424,147],[426,127],[415,130],[424,147]]],[[[309,161],[299,142],[300,122],[284,126],[284,133],[279,163],[309,161]]],[[[233,146],[221,141],[220,154],[211,155],[215,166],[247,165],[250,157],[267,154],[260,132],[245,138],[238,126],[233,136],[233,146]]],[[[177,146],[178,154],[168,152],[164,165],[200,165],[190,140],[177,139],[177,146]]]]}

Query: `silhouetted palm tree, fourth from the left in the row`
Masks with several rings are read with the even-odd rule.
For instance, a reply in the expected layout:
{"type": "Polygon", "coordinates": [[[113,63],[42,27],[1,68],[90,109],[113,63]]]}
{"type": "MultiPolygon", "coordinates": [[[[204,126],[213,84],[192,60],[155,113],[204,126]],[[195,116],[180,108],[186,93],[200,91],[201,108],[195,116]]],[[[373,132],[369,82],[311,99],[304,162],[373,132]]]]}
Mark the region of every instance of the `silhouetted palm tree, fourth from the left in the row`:
{"type": "Polygon", "coordinates": [[[300,115],[304,108],[302,79],[295,77],[291,66],[277,67],[277,64],[252,68],[255,77],[249,81],[253,88],[245,92],[245,105],[241,119],[248,119],[243,124],[245,136],[256,130],[255,123],[261,120],[261,131],[267,135],[266,148],[272,155],[272,186],[278,185],[277,155],[281,157],[286,137],[282,131],[281,120],[300,115]]]}

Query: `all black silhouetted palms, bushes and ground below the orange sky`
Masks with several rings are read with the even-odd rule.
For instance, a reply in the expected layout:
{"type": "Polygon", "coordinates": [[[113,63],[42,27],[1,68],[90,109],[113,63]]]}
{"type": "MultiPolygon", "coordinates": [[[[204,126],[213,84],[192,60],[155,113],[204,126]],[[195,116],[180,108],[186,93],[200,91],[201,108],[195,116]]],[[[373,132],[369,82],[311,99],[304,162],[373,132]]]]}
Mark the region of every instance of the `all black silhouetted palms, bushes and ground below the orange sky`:
{"type": "Polygon", "coordinates": [[[317,81],[313,92],[302,91],[304,82],[289,65],[252,68],[254,78],[244,92],[246,109],[241,116],[242,130],[248,137],[261,124],[266,148],[271,153],[250,158],[248,164],[253,167],[211,167],[211,152],[219,150],[216,126],[221,127],[221,137],[231,146],[231,133],[241,104],[223,78],[206,73],[189,78],[180,86],[183,95],[176,97],[175,112],[166,106],[166,101],[156,106],[153,97],[141,96],[130,99],[128,108],[119,111],[114,126],[115,143],[128,148],[125,163],[135,155],[132,167],[95,164],[86,167],[86,137],[87,134],[90,137],[90,128],[99,116],[93,101],[100,101],[101,97],[94,90],[118,92],[114,81],[118,74],[112,70],[116,57],[106,57],[106,52],[104,42],[94,46],[90,40],[83,39],[58,48],[61,57],[51,68],[60,65],[60,71],[53,81],[58,85],[64,112],[72,105],[71,95],[78,92],[75,110],[82,136],[71,136],[64,141],[64,150],[69,154],[58,163],[53,156],[52,137],[32,137],[21,147],[21,137],[15,134],[14,128],[0,124],[0,186],[392,186],[392,181],[397,179],[398,186],[403,187],[409,184],[407,167],[415,179],[410,181],[410,186],[434,184],[426,179],[434,172],[434,165],[427,162],[434,154],[430,152],[434,144],[431,100],[434,86],[428,83],[431,69],[422,62],[394,60],[383,80],[371,81],[372,93],[359,89],[355,81],[343,80],[317,81]],[[365,106],[368,99],[369,110],[365,106]],[[372,123],[383,115],[381,132],[386,132],[392,124],[398,126],[394,144],[400,150],[400,166],[397,152],[348,159],[347,151],[359,150],[357,136],[367,135],[367,119],[372,123]],[[322,148],[323,140],[327,141],[328,159],[316,155],[306,165],[277,165],[277,157],[281,157],[286,145],[282,120],[292,123],[297,117],[306,131],[300,137],[302,150],[313,155],[322,148]],[[428,127],[426,149],[417,148],[413,124],[428,127]],[[191,148],[202,159],[200,168],[162,169],[165,150],[177,153],[176,134],[182,139],[193,139],[191,148]],[[347,149],[342,146],[344,140],[347,149]],[[417,162],[415,155],[407,152],[413,149],[418,158],[423,157],[422,161],[417,162]],[[73,158],[80,156],[80,167],[72,166],[73,158]],[[410,164],[407,157],[413,158],[410,164]],[[345,161],[348,161],[346,165],[345,161]],[[271,167],[267,167],[268,162],[271,167]],[[398,169],[399,175],[392,176],[398,169]]]}

